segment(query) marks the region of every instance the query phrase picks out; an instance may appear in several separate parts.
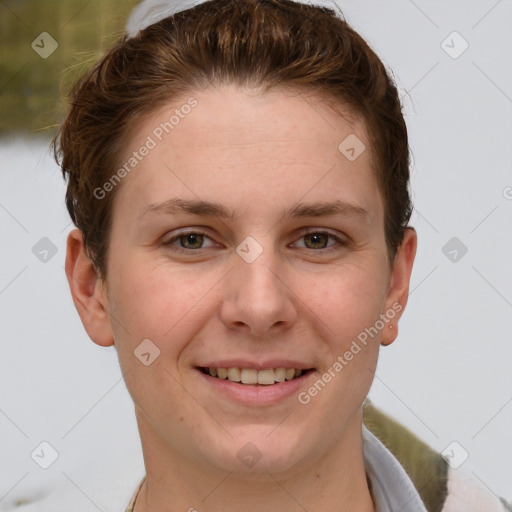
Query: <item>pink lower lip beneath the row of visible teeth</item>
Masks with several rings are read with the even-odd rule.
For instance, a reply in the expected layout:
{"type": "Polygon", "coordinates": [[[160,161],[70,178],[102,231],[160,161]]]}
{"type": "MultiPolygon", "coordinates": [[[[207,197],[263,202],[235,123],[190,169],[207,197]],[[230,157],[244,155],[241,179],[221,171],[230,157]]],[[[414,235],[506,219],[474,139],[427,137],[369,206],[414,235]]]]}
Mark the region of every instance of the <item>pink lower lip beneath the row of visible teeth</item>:
{"type": "Polygon", "coordinates": [[[216,392],[222,393],[224,396],[241,404],[251,406],[272,405],[290,396],[297,396],[300,389],[305,386],[306,381],[315,373],[314,371],[310,371],[296,379],[277,382],[276,384],[252,385],[231,382],[226,379],[218,379],[211,375],[206,375],[201,370],[196,371],[216,392]]]}

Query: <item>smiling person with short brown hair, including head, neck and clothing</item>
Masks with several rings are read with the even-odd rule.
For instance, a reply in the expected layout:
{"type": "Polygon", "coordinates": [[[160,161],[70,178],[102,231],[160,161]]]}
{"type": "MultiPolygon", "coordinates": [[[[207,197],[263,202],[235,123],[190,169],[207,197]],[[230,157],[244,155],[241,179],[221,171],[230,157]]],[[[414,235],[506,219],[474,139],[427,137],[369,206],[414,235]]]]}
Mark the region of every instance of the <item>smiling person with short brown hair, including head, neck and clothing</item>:
{"type": "Polygon", "coordinates": [[[73,299],[135,404],[128,511],[506,510],[366,402],[416,252],[379,58],[289,0],[146,12],[55,143],[73,299]]]}

